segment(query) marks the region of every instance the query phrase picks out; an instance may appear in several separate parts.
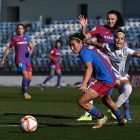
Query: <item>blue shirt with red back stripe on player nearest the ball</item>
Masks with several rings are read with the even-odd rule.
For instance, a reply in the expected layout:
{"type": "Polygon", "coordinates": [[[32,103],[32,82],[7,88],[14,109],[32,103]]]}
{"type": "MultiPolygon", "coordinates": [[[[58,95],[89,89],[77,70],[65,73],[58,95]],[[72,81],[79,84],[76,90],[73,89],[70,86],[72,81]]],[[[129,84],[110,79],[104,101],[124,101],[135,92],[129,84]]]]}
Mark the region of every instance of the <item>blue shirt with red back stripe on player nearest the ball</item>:
{"type": "Polygon", "coordinates": [[[80,57],[84,64],[87,62],[92,63],[94,78],[105,84],[112,84],[116,81],[110,65],[96,47],[84,45],[80,51],[80,57]]]}

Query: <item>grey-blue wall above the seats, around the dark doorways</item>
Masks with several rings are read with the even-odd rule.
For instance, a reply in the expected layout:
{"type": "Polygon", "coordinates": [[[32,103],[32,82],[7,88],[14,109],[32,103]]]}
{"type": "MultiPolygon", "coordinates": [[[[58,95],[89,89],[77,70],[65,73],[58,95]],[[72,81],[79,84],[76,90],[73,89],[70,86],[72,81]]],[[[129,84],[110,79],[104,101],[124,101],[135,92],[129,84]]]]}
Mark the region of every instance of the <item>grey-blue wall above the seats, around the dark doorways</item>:
{"type": "Polygon", "coordinates": [[[112,9],[122,12],[122,0],[3,0],[2,22],[6,21],[6,8],[12,6],[20,7],[20,21],[36,21],[39,15],[43,16],[43,23],[48,17],[52,20],[76,20],[78,4],[88,4],[89,19],[97,16],[106,18],[107,12],[112,9]]]}

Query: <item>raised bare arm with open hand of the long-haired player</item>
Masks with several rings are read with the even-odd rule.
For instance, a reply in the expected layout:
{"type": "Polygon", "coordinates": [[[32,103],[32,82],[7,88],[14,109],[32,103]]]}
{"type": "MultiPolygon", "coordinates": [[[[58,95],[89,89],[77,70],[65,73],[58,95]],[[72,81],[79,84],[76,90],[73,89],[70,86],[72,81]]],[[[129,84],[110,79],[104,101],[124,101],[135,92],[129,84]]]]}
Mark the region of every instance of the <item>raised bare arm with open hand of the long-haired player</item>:
{"type": "Polygon", "coordinates": [[[87,22],[88,22],[87,18],[85,19],[84,15],[80,15],[79,19],[77,19],[77,20],[82,25],[82,34],[84,34],[86,36],[86,39],[88,40],[88,39],[92,38],[90,33],[86,34],[86,27],[87,27],[87,22]]]}

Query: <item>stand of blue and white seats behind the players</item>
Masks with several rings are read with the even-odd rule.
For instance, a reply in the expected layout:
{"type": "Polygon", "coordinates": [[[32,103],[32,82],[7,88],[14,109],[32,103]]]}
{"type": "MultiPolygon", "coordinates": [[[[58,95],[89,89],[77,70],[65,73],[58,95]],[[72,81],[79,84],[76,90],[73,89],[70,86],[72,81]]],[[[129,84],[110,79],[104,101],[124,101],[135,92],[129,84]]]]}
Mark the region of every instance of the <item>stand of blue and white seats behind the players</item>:
{"type": "MultiPolygon", "coordinates": [[[[0,23],[0,61],[9,46],[12,36],[16,35],[16,26],[18,23],[3,22],[0,23]]],[[[87,32],[92,30],[99,24],[106,24],[105,19],[88,20],[87,32]]],[[[123,29],[127,33],[127,43],[132,49],[137,49],[140,46],[140,19],[127,19],[123,29]]],[[[84,70],[79,55],[73,55],[68,45],[68,36],[75,32],[81,32],[81,25],[77,20],[68,21],[53,21],[50,25],[44,25],[40,28],[39,22],[32,22],[32,27],[28,27],[25,34],[31,38],[34,46],[34,53],[31,55],[31,63],[34,70],[48,70],[50,59],[48,55],[50,50],[55,46],[56,40],[61,40],[61,59],[62,71],[84,70]]],[[[91,41],[96,41],[92,38],[91,41]]],[[[14,50],[10,52],[6,58],[4,69],[15,69],[14,50]]],[[[130,61],[131,70],[139,70],[140,61],[132,58],[130,61]],[[135,68],[135,69],[134,69],[135,68]]]]}

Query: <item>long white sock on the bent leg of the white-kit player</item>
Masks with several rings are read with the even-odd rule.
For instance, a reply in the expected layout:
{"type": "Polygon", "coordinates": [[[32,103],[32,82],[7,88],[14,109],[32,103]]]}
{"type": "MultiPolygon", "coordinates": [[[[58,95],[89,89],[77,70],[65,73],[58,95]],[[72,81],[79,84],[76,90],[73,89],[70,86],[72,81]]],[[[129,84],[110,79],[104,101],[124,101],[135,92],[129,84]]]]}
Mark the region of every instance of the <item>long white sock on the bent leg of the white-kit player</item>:
{"type": "Polygon", "coordinates": [[[120,107],[130,96],[132,92],[132,86],[130,84],[126,84],[122,87],[121,90],[123,93],[118,97],[116,101],[116,105],[120,107]]]}

